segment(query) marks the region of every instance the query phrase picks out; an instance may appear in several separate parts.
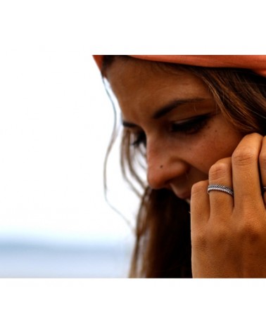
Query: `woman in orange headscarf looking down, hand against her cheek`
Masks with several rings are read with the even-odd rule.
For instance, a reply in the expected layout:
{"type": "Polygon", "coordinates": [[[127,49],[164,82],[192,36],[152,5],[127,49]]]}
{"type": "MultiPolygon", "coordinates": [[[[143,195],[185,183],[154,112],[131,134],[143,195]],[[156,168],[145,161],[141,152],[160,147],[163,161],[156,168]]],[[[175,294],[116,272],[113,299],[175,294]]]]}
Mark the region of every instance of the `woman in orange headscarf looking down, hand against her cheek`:
{"type": "Polygon", "coordinates": [[[130,276],[266,277],[266,56],[94,56],[147,184],[130,276]]]}

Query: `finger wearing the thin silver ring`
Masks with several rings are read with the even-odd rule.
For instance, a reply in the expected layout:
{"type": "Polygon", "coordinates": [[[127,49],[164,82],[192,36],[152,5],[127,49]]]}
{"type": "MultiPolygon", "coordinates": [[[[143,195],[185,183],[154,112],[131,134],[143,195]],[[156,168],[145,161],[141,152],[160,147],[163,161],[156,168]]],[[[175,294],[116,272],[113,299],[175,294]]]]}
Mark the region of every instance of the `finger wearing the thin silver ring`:
{"type": "MultiPolygon", "coordinates": [[[[218,160],[212,167],[210,167],[209,182],[210,184],[220,184],[227,186],[230,189],[233,188],[231,158],[218,160]]],[[[229,193],[210,191],[209,196],[211,213],[221,212],[221,207],[226,208],[230,212],[232,211],[234,207],[234,198],[229,195],[229,193]]]]}

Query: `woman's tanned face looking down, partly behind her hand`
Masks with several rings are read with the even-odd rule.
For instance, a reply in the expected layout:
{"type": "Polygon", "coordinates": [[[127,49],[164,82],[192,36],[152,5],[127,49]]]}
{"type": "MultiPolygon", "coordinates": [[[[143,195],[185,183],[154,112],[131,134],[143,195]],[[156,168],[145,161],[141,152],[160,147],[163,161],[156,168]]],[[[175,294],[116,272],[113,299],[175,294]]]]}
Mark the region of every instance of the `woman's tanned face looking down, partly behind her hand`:
{"type": "Polygon", "coordinates": [[[189,200],[210,166],[232,155],[242,136],[224,120],[201,79],[145,60],[117,58],[107,79],[134,146],[146,146],[148,184],[189,200]]]}

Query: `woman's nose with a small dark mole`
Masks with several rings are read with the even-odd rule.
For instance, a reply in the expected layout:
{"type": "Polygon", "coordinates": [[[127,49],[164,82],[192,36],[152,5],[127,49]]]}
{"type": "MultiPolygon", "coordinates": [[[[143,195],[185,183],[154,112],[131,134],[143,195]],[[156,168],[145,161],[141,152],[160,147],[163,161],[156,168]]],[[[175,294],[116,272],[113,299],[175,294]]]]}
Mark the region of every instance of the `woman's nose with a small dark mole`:
{"type": "Polygon", "coordinates": [[[169,188],[171,181],[186,177],[188,173],[189,165],[170,147],[147,145],[146,156],[147,180],[152,189],[169,188]]]}

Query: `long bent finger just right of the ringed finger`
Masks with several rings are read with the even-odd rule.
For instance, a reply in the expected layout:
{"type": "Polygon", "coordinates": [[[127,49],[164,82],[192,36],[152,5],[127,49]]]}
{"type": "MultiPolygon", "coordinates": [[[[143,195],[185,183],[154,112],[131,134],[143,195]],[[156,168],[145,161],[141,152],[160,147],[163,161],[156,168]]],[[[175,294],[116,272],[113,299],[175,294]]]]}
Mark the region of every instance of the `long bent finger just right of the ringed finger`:
{"type": "Polygon", "coordinates": [[[243,208],[262,199],[258,160],[262,148],[260,134],[244,136],[232,155],[234,205],[243,208]]]}

